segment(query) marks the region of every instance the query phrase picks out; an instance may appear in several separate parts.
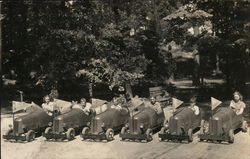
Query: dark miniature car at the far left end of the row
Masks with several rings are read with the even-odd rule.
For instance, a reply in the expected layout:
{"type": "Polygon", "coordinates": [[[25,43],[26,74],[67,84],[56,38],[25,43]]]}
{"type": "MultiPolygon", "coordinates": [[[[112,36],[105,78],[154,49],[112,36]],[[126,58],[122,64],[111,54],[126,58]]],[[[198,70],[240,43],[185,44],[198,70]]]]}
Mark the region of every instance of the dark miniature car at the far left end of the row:
{"type": "Polygon", "coordinates": [[[39,106],[33,105],[27,111],[29,113],[13,119],[13,127],[3,135],[3,139],[30,142],[35,139],[36,133],[52,124],[53,116],[49,116],[39,106]]]}

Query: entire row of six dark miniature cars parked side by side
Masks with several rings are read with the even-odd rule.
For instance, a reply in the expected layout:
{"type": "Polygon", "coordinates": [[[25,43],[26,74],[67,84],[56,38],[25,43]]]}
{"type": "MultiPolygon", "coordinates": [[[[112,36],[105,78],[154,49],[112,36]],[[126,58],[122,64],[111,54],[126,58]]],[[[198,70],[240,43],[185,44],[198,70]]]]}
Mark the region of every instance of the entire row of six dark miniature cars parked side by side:
{"type": "Polygon", "coordinates": [[[147,106],[150,103],[147,99],[141,101],[136,105],[132,99],[122,109],[114,107],[112,102],[99,102],[89,114],[73,107],[57,116],[49,116],[39,106],[32,105],[32,111],[13,120],[13,126],[3,138],[30,142],[43,132],[43,137],[52,141],[73,140],[77,134],[84,140],[111,141],[119,133],[121,140],[148,142],[153,139],[153,133],[160,130],[161,141],[192,142],[193,133],[200,129],[198,136],[201,141],[233,143],[236,129],[247,131],[242,116],[237,116],[223,104],[215,109],[209,121],[203,120],[203,113],[195,115],[192,109],[183,105],[169,122],[164,122],[163,112],[157,113],[147,106]]]}

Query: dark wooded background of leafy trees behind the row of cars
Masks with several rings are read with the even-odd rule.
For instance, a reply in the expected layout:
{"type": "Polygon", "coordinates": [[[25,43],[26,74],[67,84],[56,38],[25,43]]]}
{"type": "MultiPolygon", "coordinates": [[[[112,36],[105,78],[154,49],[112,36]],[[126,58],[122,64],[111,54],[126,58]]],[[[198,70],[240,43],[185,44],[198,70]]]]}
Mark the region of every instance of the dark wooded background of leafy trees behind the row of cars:
{"type": "Polygon", "coordinates": [[[1,4],[5,99],[15,89],[42,99],[52,88],[69,99],[107,98],[126,84],[146,96],[177,79],[204,88],[204,78],[225,80],[225,95],[249,92],[249,0],[1,4]]]}

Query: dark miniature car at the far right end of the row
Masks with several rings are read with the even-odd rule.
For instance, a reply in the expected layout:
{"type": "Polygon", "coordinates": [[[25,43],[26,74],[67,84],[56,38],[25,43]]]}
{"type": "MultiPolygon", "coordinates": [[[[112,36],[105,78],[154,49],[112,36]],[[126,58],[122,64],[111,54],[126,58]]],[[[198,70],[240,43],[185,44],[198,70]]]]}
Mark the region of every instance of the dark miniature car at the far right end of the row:
{"type": "Polygon", "coordinates": [[[217,107],[214,115],[209,119],[208,123],[201,125],[200,134],[201,141],[234,142],[234,131],[241,128],[243,132],[247,132],[247,122],[243,120],[242,115],[236,113],[229,107],[217,107]]]}

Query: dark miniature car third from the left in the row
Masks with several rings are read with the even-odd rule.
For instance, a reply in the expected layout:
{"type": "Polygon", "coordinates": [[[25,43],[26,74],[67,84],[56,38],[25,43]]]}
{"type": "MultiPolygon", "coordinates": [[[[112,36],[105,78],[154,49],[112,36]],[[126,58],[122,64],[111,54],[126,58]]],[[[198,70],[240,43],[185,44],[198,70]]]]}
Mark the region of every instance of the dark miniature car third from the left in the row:
{"type": "Polygon", "coordinates": [[[97,107],[97,115],[92,118],[90,127],[84,127],[81,137],[86,139],[113,140],[114,134],[128,122],[126,107],[116,108],[112,103],[97,107]]]}

